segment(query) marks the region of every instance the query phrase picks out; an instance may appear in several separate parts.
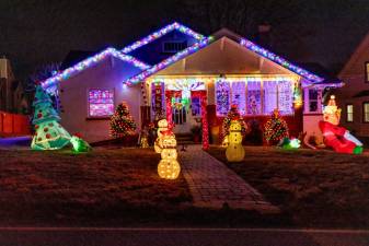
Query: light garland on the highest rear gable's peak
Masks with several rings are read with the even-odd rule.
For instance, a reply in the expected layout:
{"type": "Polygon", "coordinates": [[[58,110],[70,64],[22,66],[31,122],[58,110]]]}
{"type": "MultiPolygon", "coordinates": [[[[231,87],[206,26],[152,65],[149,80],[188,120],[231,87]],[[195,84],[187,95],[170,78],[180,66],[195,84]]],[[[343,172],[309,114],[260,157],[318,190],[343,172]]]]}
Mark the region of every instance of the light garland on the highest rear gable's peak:
{"type": "Polygon", "coordinates": [[[164,36],[165,34],[172,32],[172,31],[180,31],[181,33],[184,33],[188,36],[192,36],[194,37],[195,39],[197,40],[201,40],[204,39],[205,37],[194,31],[192,31],[191,28],[177,23],[177,22],[174,22],[173,24],[170,24],[170,25],[166,25],[164,26],[163,28],[150,34],[149,36],[138,40],[138,42],[135,42],[134,44],[125,47],[122,49],[122,52],[124,54],[128,54],[128,52],[131,52],[132,50],[135,49],[138,49],[139,47],[142,47],[143,45],[147,45],[162,36],[164,36]]]}

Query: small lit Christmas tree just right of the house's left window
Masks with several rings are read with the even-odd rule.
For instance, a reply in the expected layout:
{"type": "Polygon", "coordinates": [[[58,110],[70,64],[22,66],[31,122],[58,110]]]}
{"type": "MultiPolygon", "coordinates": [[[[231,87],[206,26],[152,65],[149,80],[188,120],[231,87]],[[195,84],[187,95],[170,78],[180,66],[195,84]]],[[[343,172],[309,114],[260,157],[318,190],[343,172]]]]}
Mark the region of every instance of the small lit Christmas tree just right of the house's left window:
{"type": "Polygon", "coordinates": [[[119,104],[111,118],[111,136],[123,138],[135,133],[136,122],[129,114],[128,106],[119,104]]]}

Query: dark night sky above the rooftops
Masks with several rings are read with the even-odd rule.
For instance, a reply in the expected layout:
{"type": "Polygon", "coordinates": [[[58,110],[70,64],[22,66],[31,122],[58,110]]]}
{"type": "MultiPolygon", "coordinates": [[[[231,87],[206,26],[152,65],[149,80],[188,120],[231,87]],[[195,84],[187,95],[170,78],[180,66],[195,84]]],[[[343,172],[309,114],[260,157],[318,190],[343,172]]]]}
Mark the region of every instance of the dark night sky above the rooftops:
{"type": "Polygon", "coordinates": [[[38,66],[62,61],[69,50],[122,48],[173,21],[206,35],[227,26],[251,39],[257,24],[268,23],[273,51],[337,71],[369,31],[369,0],[228,0],[227,8],[214,2],[0,0],[0,55],[23,79],[38,66]]]}

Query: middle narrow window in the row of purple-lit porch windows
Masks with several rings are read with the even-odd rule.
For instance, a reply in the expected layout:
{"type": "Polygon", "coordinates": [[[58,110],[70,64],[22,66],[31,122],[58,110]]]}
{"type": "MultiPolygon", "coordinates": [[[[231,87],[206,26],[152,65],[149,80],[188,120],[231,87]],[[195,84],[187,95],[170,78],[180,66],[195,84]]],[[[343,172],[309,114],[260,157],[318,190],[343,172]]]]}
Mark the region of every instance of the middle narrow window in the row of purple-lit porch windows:
{"type": "Polygon", "coordinates": [[[247,82],[247,115],[262,113],[262,83],[260,81],[247,82]]]}

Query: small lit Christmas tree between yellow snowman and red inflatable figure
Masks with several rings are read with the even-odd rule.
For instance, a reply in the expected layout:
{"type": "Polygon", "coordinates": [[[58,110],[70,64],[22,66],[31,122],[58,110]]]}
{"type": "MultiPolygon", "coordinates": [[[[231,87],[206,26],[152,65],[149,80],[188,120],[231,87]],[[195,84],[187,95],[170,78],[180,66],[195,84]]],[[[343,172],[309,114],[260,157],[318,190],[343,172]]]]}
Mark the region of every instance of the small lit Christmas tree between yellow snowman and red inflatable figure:
{"type": "Polygon", "coordinates": [[[281,139],[288,138],[288,126],[278,109],[274,109],[272,118],[264,126],[264,137],[268,144],[277,144],[281,139]]]}

